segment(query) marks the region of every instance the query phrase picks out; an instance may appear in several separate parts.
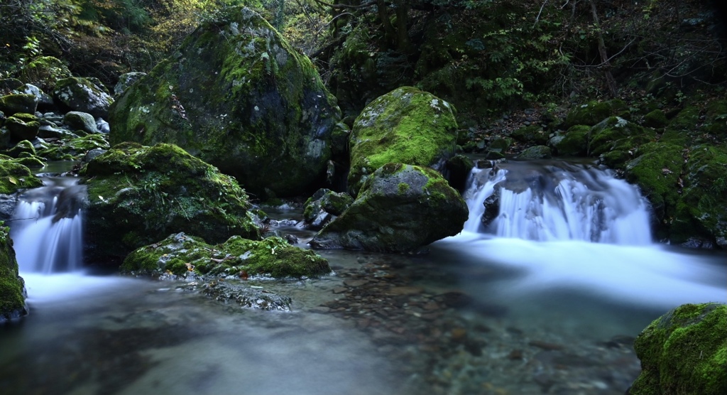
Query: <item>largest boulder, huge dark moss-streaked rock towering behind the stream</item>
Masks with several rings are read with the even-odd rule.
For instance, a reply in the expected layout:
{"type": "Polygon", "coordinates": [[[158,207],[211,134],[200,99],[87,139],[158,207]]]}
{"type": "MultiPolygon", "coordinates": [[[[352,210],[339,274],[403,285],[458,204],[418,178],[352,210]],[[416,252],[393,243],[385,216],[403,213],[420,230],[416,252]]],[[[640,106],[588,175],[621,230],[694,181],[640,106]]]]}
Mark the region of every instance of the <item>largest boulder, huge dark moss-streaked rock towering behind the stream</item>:
{"type": "Polygon", "coordinates": [[[111,143],[174,143],[258,196],[313,192],[340,109],[310,60],[250,9],[199,26],[111,108],[111,143]]]}

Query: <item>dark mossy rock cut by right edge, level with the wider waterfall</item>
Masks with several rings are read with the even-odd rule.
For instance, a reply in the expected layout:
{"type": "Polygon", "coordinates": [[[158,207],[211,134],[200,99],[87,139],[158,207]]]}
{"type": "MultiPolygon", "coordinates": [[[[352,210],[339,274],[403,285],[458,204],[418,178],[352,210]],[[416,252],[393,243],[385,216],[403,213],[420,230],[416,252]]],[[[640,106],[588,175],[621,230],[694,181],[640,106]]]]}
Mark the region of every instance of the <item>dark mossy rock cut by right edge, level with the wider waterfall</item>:
{"type": "Polygon", "coordinates": [[[670,241],[682,244],[701,239],[727,249],[726,196],[727,148],[707,144],[691,147],[670,241]]]}

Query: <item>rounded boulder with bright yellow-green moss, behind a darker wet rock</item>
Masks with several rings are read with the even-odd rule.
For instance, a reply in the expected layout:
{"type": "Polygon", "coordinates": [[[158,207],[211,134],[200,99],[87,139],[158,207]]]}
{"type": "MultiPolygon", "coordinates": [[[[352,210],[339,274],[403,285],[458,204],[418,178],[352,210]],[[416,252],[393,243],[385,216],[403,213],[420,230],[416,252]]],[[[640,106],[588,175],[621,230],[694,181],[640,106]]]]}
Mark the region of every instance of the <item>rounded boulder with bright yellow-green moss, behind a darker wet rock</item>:
{"type": "Polygon", "coordinates": [[[441,167],[456,145],[449,103],[413,87],[395,89],[366,105],[353,124],[348,188],[355,195],[387,163],[441,167]]]}

